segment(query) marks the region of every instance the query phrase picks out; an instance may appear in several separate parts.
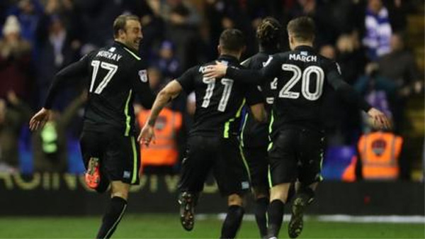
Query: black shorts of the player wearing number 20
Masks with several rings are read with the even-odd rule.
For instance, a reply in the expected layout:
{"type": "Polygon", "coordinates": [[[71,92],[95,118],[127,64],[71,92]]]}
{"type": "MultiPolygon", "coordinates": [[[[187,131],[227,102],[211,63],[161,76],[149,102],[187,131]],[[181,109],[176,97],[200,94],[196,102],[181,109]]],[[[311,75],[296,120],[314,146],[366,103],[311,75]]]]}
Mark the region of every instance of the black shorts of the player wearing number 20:
{"type": "Polygon", "coordinates": [[[295,182],[309,185],[322,181],[324,133],[304,127],[281,130],[268,151],[271,187],[295,182]]]}

